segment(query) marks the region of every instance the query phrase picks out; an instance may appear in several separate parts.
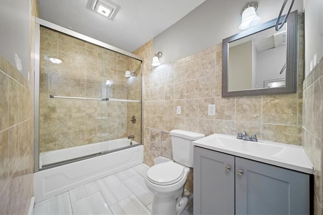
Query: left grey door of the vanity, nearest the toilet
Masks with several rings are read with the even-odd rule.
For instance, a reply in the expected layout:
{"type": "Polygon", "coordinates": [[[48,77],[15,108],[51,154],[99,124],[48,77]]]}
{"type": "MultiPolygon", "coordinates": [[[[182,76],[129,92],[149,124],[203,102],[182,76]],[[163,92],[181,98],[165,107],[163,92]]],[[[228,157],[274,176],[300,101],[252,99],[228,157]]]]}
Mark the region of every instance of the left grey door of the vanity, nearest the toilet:
{"type": "Polygon", "coordinates": [[[234,214],[234,178],[234,156],[194,146],[194,214],[234,214]]]}

